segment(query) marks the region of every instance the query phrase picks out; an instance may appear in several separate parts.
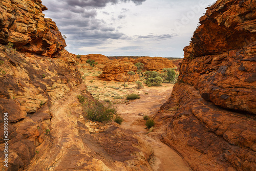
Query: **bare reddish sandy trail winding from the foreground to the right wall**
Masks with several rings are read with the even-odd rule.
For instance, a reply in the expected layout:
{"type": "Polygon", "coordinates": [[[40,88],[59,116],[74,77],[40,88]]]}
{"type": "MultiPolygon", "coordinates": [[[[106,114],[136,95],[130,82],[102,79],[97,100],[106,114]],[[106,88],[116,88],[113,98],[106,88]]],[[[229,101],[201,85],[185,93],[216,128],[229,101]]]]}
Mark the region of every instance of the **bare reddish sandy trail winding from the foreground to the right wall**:
{"type": "Polygon", "coordinates": [[[143,118],[143,116],[138,115],[139,113],[148,116],[156,113],[169,98],[172,88],[173,86],[146,88],[143,91],[147,92],[147,94],[141,94],[140,99],[130,100],[129,104],[121,103],[115,105],[118,113],[124,117],[121,127],[132,130],[153,146],[154,156],[150,162],[155,171],[191,170],[172,148],[160,141],[159,133],[146,134],[148,131],[144,129],[145,125],[141,124],[141,122],[136,122],[138,119],[143,118]]]}

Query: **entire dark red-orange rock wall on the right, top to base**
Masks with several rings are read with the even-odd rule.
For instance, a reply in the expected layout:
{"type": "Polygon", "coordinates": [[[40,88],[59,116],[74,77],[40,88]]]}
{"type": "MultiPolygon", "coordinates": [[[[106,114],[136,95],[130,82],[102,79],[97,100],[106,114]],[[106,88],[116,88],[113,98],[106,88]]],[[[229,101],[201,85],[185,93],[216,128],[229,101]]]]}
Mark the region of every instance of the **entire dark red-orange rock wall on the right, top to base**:
{"type": "Polygon", "coordinates": [[[184,49],[155,118],[194,170],[256,169],[256,2],[219,0],[184,49]]]}

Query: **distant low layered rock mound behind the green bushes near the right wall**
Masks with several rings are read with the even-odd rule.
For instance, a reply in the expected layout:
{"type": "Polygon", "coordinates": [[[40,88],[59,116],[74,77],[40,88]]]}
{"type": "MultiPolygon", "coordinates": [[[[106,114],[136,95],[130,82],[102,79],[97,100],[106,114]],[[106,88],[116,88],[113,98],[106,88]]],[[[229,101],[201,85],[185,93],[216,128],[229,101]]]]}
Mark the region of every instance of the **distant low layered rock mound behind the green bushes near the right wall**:
{"type": "Polygon", "coordinates": [[[144,69],[149,71],[162,71],[164,68],[177,68],[172,61],[163,57],[139,57],[134,63],[144,63],[144,69]]]}

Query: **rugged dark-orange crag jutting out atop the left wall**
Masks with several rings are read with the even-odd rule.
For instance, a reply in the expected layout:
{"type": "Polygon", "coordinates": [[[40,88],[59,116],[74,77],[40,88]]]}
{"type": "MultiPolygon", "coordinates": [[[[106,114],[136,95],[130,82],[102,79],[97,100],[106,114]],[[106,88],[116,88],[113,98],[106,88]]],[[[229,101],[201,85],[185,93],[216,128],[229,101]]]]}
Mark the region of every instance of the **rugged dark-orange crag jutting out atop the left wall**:
{"type": "Polygon", "coordinates": [[[65,40],[40,0],[3,0],[0,2],[0,43],[11,42],[23,52],[54,56],[66,47],[65,40]]]}

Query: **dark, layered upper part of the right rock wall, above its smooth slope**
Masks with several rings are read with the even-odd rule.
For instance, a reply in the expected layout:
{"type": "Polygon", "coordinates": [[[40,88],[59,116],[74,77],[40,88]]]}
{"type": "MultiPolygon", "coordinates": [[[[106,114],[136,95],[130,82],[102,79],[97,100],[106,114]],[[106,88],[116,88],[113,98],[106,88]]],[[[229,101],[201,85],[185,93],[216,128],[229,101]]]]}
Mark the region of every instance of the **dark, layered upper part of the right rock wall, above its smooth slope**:
{"type": "Polygon", "coordinates": [[[180,79],[223,108],[256,114],[255,1],[217,1],[184,49],[180,79]]]}

